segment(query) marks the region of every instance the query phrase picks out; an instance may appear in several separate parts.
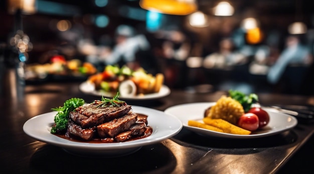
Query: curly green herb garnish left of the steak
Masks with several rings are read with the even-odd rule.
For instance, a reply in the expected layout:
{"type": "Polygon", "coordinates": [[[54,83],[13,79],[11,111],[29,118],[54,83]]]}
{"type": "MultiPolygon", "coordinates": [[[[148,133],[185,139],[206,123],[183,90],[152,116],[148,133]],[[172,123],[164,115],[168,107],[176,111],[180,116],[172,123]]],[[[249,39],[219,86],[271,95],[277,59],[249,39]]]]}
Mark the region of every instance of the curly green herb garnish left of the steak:
{"type": "Polygon", "coordinates": [[[74,111],[75,108],[82,106],[85,103],[83,99],[72,98],[64,102],[63,107],[52,108],[53,111],[58,111],[55,116],[56,125],[51,128],[51,133],[63,132],[67,128],[69,121],[69,114],[71,111],[74,111]]]}

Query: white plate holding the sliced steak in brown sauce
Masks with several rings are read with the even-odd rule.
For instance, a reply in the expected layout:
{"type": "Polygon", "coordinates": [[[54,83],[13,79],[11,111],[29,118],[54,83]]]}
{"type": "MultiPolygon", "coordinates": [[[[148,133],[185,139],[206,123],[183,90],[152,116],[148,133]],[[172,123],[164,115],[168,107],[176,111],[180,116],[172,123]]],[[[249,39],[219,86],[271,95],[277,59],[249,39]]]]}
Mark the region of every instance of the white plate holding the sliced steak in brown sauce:
{"type": "Polygon", "coordinates": [[[49,144],[62,147],[65,151],[82,156],[112,157],[135,152],[144,145],[153,144],[170,138],[182,129],[182,122],[162,111],[132,106],[135,113],[147,115],[152,134],[148,137],[120,143],[84,143],[60,138],[50,133],[57,112],[41,114],[25,122],[23,130],[29,136],[49,144]]]}

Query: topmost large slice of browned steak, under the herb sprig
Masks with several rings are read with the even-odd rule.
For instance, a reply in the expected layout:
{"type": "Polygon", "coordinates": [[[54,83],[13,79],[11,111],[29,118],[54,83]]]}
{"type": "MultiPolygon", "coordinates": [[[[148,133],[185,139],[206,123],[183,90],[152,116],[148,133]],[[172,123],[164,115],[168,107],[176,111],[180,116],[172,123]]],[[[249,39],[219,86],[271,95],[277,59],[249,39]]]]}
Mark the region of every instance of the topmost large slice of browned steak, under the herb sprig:
{"type": "Polygon", "coordinates": [[[70,112],[69,117],[82,128],[89,128],[119,118],[131,110],[127,104],[120,107],[97,107],[99,104],[100,101],[94,101],[78,107],[70,112]]]}

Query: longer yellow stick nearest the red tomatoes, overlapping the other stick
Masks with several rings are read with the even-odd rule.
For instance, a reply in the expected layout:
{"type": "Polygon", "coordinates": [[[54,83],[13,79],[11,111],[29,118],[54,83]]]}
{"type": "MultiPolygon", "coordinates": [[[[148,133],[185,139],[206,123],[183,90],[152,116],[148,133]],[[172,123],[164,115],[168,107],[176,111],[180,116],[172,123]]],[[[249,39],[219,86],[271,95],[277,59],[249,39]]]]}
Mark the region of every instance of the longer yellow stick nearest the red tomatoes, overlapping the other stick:
{"type": "Polygon", "coordinates": [[[238,134],[238,135],[249,135],[251,131],[242,129],[236,125],[233,125],[223,119],[211,119],[209,117],[203,118],[203,122],[207,125],[222,129],[225,133],[238,134]]]}

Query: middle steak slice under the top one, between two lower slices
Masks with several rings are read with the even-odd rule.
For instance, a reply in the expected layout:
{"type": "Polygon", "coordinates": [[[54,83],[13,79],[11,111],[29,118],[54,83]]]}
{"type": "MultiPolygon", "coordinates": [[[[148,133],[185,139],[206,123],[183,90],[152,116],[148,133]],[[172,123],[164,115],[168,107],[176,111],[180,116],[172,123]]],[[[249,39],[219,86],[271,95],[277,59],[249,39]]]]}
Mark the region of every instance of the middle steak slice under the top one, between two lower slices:
{"type": "Polygon", "coordinates": [[[137,121],[137,114],[129,112],[127,115],[97,126],[100,137],[114,137],[120,132],[128,130],[137,121]]]}

